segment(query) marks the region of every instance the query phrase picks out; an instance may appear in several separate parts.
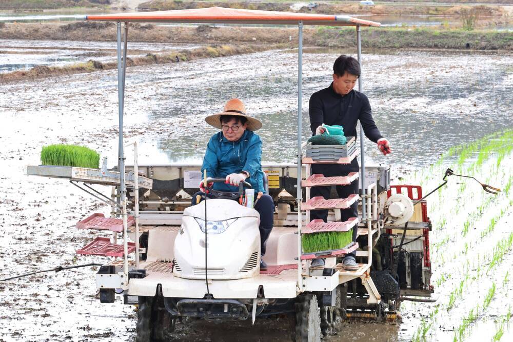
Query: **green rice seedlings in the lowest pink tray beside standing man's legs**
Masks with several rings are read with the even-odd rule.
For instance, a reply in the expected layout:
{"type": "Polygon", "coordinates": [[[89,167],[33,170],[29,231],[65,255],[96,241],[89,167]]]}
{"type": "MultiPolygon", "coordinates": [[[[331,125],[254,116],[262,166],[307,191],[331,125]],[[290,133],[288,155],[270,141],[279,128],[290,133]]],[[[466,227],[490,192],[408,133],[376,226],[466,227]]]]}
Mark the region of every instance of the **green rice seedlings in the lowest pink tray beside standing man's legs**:
{"type": "Polygon", "coordinates": [[[301,236],[303,253],[342,249],[352,242],[352,229],[347,232],[310,233],[301,236]]]}

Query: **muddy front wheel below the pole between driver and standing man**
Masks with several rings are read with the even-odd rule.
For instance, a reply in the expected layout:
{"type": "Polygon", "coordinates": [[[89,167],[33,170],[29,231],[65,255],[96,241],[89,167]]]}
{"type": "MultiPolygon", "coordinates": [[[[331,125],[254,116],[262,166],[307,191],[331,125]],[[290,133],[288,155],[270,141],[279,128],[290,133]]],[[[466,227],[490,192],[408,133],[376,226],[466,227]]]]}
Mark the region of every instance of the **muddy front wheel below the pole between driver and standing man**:
{"type": "Polygon", "coordinates": [[[295,303],[295,341],[321,340],[321,311],[314,294],[302,294],[295,303]]]}

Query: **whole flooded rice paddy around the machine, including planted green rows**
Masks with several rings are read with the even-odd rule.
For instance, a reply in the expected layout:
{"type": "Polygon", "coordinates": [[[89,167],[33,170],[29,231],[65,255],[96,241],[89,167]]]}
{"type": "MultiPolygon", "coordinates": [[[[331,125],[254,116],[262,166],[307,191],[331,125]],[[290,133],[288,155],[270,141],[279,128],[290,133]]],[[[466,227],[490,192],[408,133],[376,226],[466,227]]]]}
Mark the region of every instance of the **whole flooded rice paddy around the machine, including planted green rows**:
{"type": "MultiPolygon", "coordinates": [[[[336,56],[317,50],[304,55],[304,139],[310,135],[308,97],[329,85],[336,56]]],[[[418,183],[429,191],[441,183],[450,166],[503,192],[491,196],[473,180],[451,177],[446,188],[428,198],[433,222],[431,283],[437,303],[403,303],[403,322],[395,325],[344,323],[330,341],[491,340],[501,331],[499,339],[511,339],[513,142],[511,135],[498,134],[466,145],[513,128],[511,65],[513,57],[500,53],[364,55],[364,92],[393,149],[391,155],[381,156],[367,140],[366,152],[372,162],[392,165],[393,184],[418,183]],[[488,144],[494,142],[498,144],[488,144]]],[[[105,261],[74,254],[96,235],[74,226],[80,218],[108,213],[109,208],[65,181],[26,176],[24,167],[37,164],[41,147],[53,143],[86,145],[114,165],[116,85],[115,71],[105,71],[2,86],[0,278],[105,261]]],[[[265,162],[295,158],[293,52],[133,67],[127,70],[126,85],[125,137],[126,142],[140,142],[140,164],[200,162],[215,133],[204,117],[218,112],[231,97],[243,99],[248,112],[264,123],[258,133],[265,162]]],[[[130,152],[127,158],[131,159],[130,152]]],[[[95,299],[94,273],[85,268],[0,283],[0,340],[133,340],[133,307],[123,306],[120,298],[101,305],[95,299]]],[[[286,341],[289,325],[276,319],[229,329],[201,324],[180,328],[175,337],[286,341]]]]}

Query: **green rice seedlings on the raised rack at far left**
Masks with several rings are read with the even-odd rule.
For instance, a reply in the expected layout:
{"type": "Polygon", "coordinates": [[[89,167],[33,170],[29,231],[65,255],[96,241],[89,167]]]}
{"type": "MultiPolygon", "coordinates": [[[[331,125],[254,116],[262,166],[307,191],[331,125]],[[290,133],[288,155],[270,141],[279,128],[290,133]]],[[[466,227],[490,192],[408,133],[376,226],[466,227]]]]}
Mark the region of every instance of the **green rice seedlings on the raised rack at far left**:
{"type": "Polygon", "coordinates": [[[41,151],[41,164],[98,169],[100,154],[84,146],[49,145],[41,151]]]}

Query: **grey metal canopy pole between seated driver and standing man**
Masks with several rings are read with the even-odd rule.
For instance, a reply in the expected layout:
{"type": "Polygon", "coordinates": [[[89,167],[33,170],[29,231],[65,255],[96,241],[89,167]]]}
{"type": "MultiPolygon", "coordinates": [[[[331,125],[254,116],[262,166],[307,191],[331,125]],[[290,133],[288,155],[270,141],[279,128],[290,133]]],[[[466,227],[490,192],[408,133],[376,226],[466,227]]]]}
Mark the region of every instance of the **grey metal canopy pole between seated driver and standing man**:
{"type": "Polygon", "coordinates": [[[302,123],[303,123],[303,22],[299,22],[299,45],[298,45],[298,184],[297,184],[297,198],[298,203],[298,292],[303,292],[303,276],[302,276],[302,265],[301,265],[301,226],[303,223],[303,215],[301,214],[301,202],[303,197],[303,191],[301,188],[301,163],[302,163],[302,123]]]}

